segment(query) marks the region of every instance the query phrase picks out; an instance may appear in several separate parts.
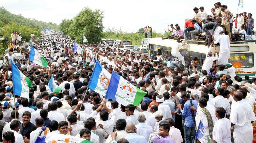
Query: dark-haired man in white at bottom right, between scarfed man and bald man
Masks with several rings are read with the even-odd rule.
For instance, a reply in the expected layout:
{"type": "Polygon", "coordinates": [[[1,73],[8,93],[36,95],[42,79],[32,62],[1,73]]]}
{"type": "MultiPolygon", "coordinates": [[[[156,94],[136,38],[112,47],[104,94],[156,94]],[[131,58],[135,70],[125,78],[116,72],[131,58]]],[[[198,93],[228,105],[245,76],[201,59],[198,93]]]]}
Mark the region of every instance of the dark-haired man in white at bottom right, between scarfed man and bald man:
{"type": "Polygon", "coordinates": [[[231,143],[231,122],[225,118],[225,109],[217,107],[215,115],[218,120],[212,130],[212,139],[217,143],[231,143]]]}

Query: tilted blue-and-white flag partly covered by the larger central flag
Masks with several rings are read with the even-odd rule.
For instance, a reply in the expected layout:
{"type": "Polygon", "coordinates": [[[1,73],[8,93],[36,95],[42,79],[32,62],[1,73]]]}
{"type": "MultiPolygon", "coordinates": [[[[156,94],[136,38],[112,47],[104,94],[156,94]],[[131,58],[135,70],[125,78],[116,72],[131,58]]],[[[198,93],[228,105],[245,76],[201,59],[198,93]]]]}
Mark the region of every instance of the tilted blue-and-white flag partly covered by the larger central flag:
{"type": "Polygon", "coordinates": [[[111,74],[96,61],[88,88],[97,92],[99,95],[105,96],[110,78],[111,74]]]}

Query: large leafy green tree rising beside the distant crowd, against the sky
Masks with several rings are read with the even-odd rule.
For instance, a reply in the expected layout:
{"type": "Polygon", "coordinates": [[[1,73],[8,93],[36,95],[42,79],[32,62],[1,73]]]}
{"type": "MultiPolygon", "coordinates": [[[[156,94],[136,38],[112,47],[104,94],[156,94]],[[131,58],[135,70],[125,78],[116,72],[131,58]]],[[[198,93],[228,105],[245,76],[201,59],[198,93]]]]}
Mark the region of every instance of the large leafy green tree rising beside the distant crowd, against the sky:
{"type": "Polygon", "coordinates": [[[60,29],[78,43],[82,43],[82,35],[86,36],[90,43],[95,43],[101,41],[103,36],[102,19],[102,11],[99,9],[93,11],[86,7],[74,17],[74,20],[64,19],[60,29]]]}

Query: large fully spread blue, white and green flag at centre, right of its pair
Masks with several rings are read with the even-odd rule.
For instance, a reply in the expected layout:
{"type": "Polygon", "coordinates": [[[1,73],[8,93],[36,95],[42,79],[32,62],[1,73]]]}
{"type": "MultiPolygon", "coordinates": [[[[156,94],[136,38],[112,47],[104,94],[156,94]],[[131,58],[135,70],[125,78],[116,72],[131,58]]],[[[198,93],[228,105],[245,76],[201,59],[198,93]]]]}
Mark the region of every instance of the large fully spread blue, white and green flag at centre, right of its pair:
{"type": "Polygon", "coordinates": [[[124,106],[128,104],[138,106],[146,94],[147,92],[133,86],[116,72],[112,72],[106,92],[107,99],[117,100],[118,103],[124,106]]]}

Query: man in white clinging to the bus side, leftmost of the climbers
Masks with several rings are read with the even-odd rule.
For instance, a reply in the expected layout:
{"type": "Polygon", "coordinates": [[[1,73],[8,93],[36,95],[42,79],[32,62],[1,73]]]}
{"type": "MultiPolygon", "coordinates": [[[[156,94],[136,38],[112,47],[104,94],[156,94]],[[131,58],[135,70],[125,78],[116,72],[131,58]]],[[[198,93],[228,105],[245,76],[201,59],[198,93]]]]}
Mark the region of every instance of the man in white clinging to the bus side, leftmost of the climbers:
{"type": "Polygon", "coordinates": [[[180,50],[183,51],[183,50],[186,50],[186,49],[182,49],[182,46],[185,45],[186,43],[183,43],[181,45],[181,40],[177,40],[177,43],[175,43],[172,47],[172,55],[174,57],[178,57],[179,60],[181,60],[181,63],[185,66],[185,59],[184,59],[184,56],[182,56],[180,54],[180,50]]]}

